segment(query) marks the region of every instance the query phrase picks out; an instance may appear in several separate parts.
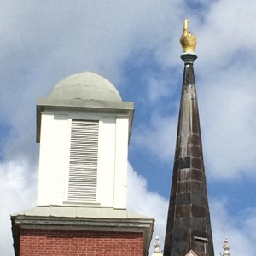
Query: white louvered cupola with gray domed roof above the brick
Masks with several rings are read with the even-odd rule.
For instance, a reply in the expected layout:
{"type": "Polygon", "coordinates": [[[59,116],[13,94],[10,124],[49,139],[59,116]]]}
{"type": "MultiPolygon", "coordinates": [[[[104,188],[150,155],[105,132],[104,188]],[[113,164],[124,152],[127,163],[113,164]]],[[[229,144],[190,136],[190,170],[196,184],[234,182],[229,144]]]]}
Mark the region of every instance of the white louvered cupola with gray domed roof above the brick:
{"type": "Polygon", "coordinates": [[[126,208],[134,113],[96,73],[71,75],[38,100],[38,206],[126,208]]]}

